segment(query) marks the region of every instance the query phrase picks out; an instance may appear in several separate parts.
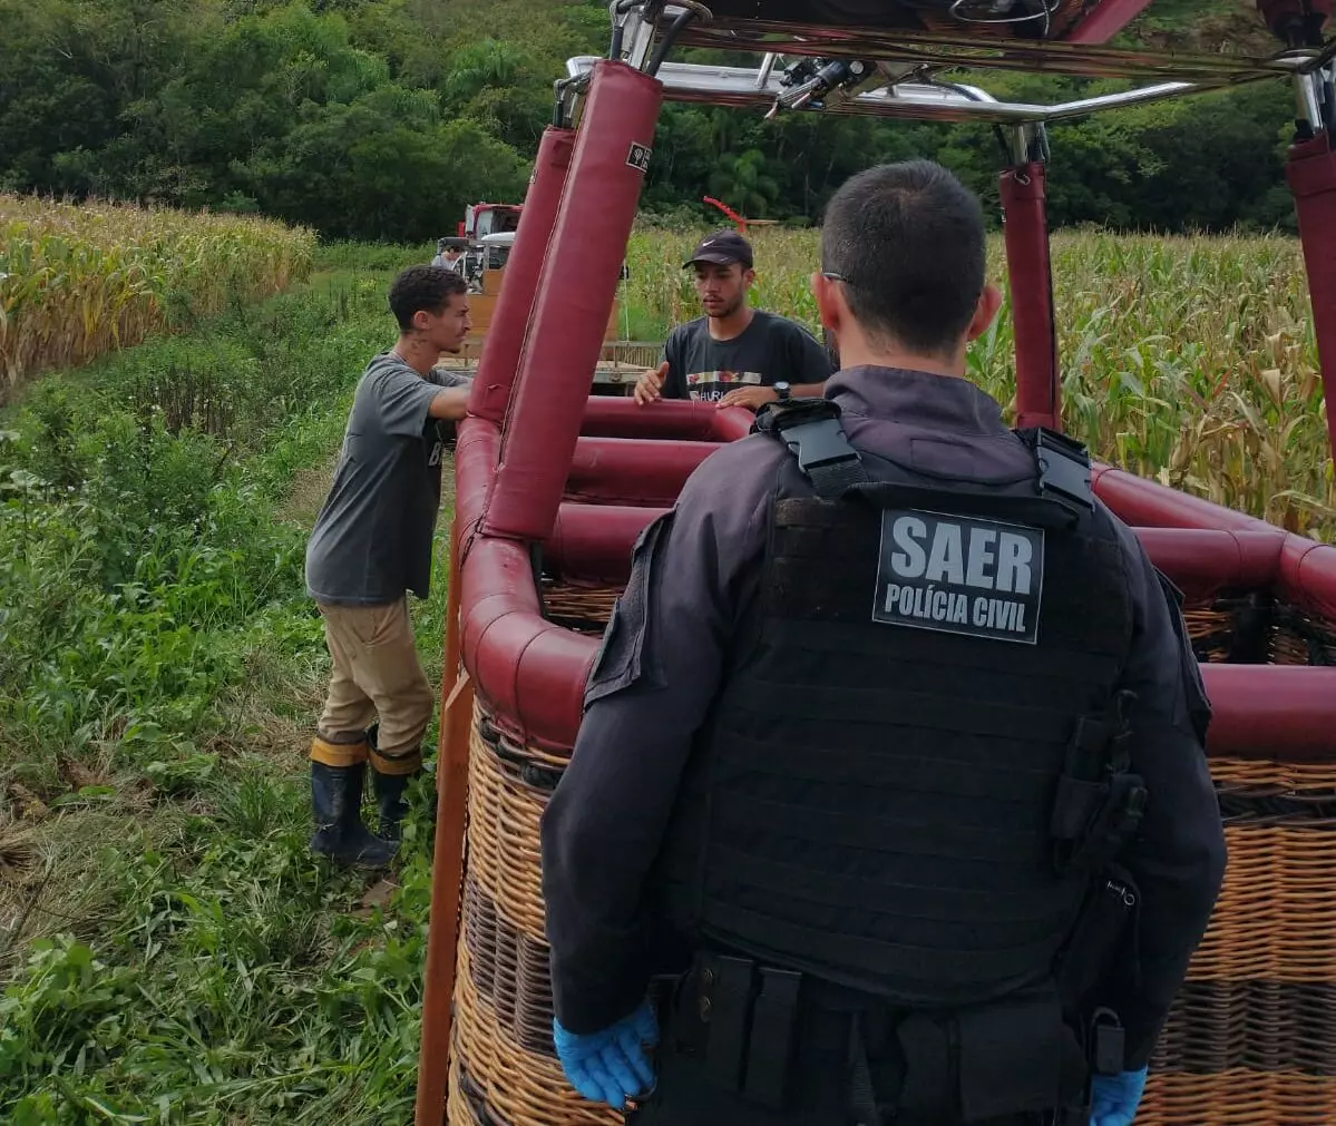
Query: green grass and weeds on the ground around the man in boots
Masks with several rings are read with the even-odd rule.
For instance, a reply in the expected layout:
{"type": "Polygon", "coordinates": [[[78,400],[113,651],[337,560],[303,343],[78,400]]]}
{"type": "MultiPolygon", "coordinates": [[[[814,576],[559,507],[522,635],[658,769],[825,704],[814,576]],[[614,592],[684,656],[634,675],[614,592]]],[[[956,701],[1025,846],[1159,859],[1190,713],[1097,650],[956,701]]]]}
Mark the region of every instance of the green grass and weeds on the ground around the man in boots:
{"type": "Polygon", "coordinates": [[[305,773],[327,671],[305,534],[393,341],[389,276],[41,381],[3,423],[5,1123],[411,1117],[429,787],[397,886],[369,888],[309,855],[305,773]]]}

